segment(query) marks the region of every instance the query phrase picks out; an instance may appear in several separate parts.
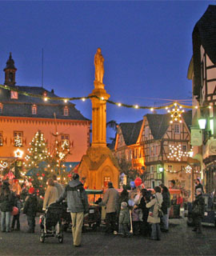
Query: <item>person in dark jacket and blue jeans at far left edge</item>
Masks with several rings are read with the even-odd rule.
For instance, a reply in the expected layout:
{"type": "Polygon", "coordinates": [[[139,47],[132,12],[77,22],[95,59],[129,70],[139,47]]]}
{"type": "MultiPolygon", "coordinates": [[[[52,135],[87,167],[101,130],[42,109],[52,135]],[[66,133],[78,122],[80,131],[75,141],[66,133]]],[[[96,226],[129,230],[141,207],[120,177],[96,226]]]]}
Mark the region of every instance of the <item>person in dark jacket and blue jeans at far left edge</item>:
{"type": "Polygon", "coordinates": [[[15,200],[15,195],[9,186],[8,182],[3,182],[0,195],[2,232],[10,232],[10,212],[13,210],[15,200]]]}

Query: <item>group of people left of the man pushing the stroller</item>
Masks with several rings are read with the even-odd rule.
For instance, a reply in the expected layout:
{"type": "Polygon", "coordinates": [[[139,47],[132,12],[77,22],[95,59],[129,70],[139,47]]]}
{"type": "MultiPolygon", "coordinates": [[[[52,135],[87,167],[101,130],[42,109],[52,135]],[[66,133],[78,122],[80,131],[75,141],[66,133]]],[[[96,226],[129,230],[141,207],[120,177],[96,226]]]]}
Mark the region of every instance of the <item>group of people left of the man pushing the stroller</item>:
{"type": "MultiPolygon", "coordinates": [[[[48,186],[43,201],[43,210],[52,202],[56,202],[62,194],[63,187],[57,182],[54,175],[53,178],[48,179],[48,186]]],[[[18,184],[18,180],[9,182],[5,180],[0,187],[0,210],[1,210],[1,230],[2,232],[11,232],[20,230],[20,214],[26,214],[28,223],[28,233],[34,233],[35,217],[38,212],[38,197],[32,186],[24,182],[22,186],[18,184]],[[15,214],[14,214],[14,207],[15,214]],[[12,221],[11,221],[11,218],[12,221]]]]}

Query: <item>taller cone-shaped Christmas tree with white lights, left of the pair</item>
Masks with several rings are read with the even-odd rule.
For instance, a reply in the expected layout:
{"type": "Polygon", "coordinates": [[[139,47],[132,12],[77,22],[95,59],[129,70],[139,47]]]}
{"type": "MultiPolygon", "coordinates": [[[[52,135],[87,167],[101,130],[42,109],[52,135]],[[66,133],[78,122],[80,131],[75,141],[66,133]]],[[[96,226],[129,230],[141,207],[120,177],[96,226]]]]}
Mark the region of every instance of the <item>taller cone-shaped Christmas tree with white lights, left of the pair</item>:
{"type": "Polygon", "coordinates": [[[30,142],[28,154],[26,154],[24,167],[26,177],[30,178],[32,185],[38,194],[44,194],[47,178],[50,177],[50,170],[47,165],[50,156],[46,147],[45,138],[40,130],[34,135],[30,142]]]}

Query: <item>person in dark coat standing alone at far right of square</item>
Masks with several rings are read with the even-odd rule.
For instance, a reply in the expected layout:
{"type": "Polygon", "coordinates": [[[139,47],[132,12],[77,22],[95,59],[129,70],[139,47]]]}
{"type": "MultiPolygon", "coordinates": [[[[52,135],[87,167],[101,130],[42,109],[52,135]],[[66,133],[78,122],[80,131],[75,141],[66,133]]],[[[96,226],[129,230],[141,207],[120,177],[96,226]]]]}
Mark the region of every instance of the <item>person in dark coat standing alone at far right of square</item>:
{"type": "Polygon", "coordinates": [[[193,231],[201,234],[202,233],[201,221],[205,212],[205,200],[202,197],[201,188],[198,188],[196,192],[197,192],[197,196],[195,201],[193,202],[193,207],[192,207],[192,215],[193,215],[194,224],[195,224],[193,231]],[[196,212],[194,210],[195,207],[198,207],[198,211],[196,210],[196,212]]]}

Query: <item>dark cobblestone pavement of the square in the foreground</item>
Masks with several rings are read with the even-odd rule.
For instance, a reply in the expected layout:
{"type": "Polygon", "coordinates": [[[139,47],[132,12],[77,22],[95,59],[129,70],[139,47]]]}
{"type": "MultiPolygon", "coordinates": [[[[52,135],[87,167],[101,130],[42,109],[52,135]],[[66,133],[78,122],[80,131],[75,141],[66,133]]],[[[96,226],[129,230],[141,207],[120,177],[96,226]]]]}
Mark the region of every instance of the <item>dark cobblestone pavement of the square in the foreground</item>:
{"type": "Polygon", "coordinates": [[[161,241],[142,236],[122,238],[102,231],[88,230],[82,234],[82,246],[74,247],[70,230],[64,242],[46,238],[39,242],[39,226],[35,234],[27,234],[26,216],[21,217],[22,230],[0,232],[0,255],[216,255],[216,229],[203,226],[203,234],[194,234],[186,219],[170,220],[170,231],[162,233],[161,241]]]}

